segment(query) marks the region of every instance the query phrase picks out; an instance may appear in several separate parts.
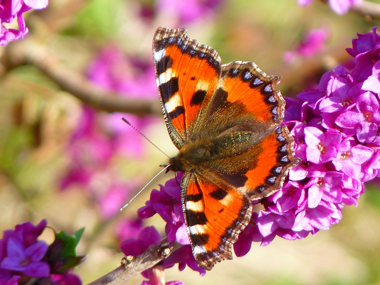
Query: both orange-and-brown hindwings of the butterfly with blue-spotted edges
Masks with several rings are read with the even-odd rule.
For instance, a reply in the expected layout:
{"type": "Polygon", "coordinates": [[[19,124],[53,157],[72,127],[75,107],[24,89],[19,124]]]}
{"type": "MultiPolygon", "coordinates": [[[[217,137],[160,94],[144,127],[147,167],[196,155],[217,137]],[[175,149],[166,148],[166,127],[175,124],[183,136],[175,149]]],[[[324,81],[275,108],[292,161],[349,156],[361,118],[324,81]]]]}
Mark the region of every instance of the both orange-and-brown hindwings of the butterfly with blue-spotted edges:
{"type": "Polygon", "coordinates": [[[279,127],[285,107],[282,95],[274,89],[279,79],[267,76],[253,62],[222,65],[208,122],[202,127],[211,125],[215,130],[220,126],[214,144],[227,145],[225,153],[210,162],[211,171],[251,199],[278,190],[288,170],[298,163],[293,138],[287,127],[279,127]]]}

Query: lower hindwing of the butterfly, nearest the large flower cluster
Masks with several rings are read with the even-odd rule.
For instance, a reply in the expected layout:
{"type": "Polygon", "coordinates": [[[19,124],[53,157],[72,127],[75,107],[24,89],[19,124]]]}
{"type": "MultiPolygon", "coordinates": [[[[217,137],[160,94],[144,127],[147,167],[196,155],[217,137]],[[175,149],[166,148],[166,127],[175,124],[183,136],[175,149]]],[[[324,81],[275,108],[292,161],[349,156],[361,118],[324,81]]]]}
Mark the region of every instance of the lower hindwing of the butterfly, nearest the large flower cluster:
{"type": "Polygon", "coordinates": [[[298,163],[293,157],[293,141],[285,126],[262,132],[261,135],[238,131],[225,136],[235,141],[240,139],[240,143],[230,150],[229,154],[233,155],[210,161],[210,174],[238,188],[251,200],[267,197],[277,191],[282,187],[289,169],[298,163]],[[242,148],[244,151],[239,153],[242,148]]]}

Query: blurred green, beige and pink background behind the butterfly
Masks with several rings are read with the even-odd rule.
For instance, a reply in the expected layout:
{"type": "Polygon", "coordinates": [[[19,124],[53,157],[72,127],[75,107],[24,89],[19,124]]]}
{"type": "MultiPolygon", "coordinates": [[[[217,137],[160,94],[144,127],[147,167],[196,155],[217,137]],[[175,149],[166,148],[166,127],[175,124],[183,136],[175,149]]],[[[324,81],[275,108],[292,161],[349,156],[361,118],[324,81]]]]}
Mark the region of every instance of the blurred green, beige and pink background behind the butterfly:
{"type": "MultiPolygon", "coordinates": [[[[136,211],[172,173],[119,212],[166,162],[120,117],[167,154],[176,153],[155,84],[157,27],[186,27],[223,63],[255,62],[282,76],[278,89],[294,97],[314,88],[325,71],[350,66],[345,48],[357,32],[378,25],[354,13],[340,16],[320,1],[302,7],[296,0],[50,0],[25,19],[25,39],[0,47],[0,230],[43,218],[69,234],[85,226],[78,253],[88,257],[75,271],[83,283],[119,266],[120,241],[138,236],[142,226],[155,225],[165,236],[159,217],[141,221],[136,211]],[[299,52],[315,29],[320,48],[299,52]]],[[[276,237],[266,247],[254,243],[246,256],[217,264],[203,277],[174,267],[166,280],[380,284],[378,188],[367,184],[359,206],[345,207],[331,230],[297,241],[276,237]]],[[[53,235],[45,231],[43,238],[51,242],[53,235]]],[[[141,280],[138,275],[128,284],[141,280]]]]}

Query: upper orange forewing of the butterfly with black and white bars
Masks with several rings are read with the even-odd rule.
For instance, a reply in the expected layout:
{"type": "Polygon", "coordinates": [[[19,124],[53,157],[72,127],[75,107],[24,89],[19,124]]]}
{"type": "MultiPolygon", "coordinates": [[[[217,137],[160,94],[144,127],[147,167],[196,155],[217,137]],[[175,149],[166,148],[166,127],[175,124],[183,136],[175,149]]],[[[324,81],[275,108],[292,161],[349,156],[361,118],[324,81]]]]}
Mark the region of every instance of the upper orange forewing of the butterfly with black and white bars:
{"type": "Polygon", "coordinates": [[[188,38],[186,29],[166,28],[155,33],[153,58],[166,126],[180,148],[214,93],[221,60],[214,49],[188,38]]]}

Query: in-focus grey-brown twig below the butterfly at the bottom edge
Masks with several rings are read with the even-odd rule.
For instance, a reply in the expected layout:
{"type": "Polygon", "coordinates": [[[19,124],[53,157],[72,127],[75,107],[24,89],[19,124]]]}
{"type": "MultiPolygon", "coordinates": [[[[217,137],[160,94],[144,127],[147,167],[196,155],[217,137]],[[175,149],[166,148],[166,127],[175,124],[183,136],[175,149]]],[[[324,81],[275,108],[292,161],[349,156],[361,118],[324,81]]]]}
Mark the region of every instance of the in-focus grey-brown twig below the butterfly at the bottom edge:
{"type": "Polygon", "coordinates": [[[100,277],[99,279],[88,283],[87,285],[118,285],[126,280],[132,278],[133,276],[141,273],[153,267],[155,264],[163,260],[167,254],[163,254],[163,249],[169,249],[170,252],[174,252],[182,245],[174,242],[171,246],[168,245],[168,239],[165,238],[160,241],[157,245],[148,248],[145,252],[133,258],[133,261],[128,264],[125,268],[120,265],[118,268],[112,270],[106,275],[100,277]]]}

